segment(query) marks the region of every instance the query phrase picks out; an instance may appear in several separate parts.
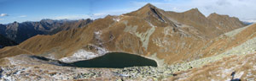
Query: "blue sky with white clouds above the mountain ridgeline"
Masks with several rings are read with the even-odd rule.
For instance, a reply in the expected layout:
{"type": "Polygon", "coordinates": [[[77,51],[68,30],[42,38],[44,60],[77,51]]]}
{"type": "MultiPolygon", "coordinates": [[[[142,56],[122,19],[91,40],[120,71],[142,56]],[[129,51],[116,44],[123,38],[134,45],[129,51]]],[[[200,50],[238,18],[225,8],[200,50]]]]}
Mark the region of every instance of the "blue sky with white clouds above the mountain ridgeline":
{"type": "Polygon", "coordinates": [[[256,19],[254,0],[0,0],[0,24],[40,19],[98,19],[108,14],[128,13],[146,3],[166,11],[199,8],[206,16],[216,12],[241,20],[256,19]]]}

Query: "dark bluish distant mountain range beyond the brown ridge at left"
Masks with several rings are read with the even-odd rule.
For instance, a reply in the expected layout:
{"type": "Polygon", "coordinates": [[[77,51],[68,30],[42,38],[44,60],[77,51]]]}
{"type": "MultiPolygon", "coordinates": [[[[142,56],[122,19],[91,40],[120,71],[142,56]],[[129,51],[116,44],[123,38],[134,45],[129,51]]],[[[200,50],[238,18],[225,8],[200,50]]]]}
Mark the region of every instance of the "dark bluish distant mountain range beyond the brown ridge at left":
{"type": "Polygon", "coordinates": [[[14,22],[11,24],[0,24],[0,35],[3,35],[17,43],[20,43],[22,41],[26,41],[26,39],[34,35],[52,35],[61,30],[84,27],[85,24],[89,24],[91,22],[91,19],[42,19],[38,22],[14,22]]]}

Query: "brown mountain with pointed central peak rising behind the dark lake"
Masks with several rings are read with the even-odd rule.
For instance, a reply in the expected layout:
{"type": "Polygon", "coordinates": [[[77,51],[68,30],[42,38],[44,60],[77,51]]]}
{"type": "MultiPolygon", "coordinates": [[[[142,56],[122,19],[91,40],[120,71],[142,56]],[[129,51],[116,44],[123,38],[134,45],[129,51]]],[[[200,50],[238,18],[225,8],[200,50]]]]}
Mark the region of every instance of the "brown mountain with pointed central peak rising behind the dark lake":
{"type": "Polygon", "coordinates": [[[212,19],[196,8],[174,13],[147,4],[131,13],[97,19],[84,28],[34,36],[19,46],[1,49],[0,57],[26,53],[75,62],[120,51],[152,58],[164,65],[218,53],[207,51],[214,47],[210,46],[212,39],[227,31],[219,30],[212,19]]]}

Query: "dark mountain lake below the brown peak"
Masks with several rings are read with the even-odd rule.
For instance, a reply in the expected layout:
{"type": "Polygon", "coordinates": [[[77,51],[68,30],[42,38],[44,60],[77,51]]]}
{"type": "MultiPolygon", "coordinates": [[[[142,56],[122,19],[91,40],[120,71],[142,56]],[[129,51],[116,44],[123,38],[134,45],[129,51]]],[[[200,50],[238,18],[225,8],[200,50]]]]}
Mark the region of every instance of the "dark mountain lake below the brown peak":
{"type": "Polygon", "coordinates": [[[134,66],[153,66],[157,67],[154,60],[137,56],[134,54],[111,52],[102,57],[96,57],[90,60],[69,63],[73,67],[108,67],[123,68],[134,66]]]}

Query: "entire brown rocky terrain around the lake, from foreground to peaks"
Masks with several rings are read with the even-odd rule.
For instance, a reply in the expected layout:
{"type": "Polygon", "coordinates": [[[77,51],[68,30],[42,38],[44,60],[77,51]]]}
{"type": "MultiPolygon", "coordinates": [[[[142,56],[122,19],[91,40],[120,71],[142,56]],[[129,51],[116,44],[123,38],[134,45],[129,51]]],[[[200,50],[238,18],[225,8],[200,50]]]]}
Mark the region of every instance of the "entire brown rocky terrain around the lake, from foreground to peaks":
{"type": "Polygon", "coordinates": [[[84,28],[37,35],[0,50],[0,79],[230,80],[236,71],[234,79],[255,80],[255,69],[248,65],[255,65],[256,24],[243,27],[236,18],[211,15],[205,17],[196,8],[175,13],[147,4],[84,28]],[[154,59],[159,67],[61,67],[60,62],[116,51],[154,59]]]}

